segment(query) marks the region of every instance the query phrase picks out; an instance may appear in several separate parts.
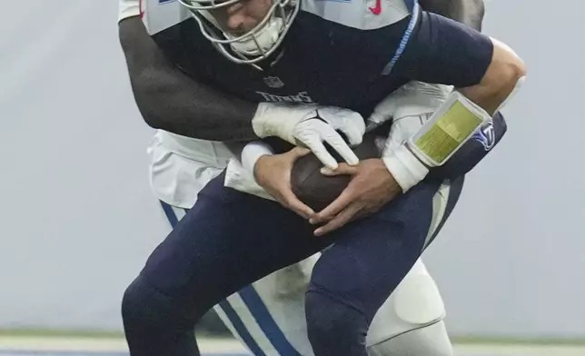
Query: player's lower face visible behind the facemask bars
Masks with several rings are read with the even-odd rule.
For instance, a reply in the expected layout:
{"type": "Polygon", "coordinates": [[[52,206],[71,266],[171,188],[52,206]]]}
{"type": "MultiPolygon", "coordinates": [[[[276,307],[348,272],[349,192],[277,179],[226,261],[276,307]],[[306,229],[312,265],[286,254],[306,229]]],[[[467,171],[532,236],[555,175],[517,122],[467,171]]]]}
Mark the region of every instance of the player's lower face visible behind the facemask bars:
{"type": "Polygon", "coordinates": [[[210,11],[224,32],[244,35],[268,15],[273,0],[242,0],[233,5],[210,11]]]}

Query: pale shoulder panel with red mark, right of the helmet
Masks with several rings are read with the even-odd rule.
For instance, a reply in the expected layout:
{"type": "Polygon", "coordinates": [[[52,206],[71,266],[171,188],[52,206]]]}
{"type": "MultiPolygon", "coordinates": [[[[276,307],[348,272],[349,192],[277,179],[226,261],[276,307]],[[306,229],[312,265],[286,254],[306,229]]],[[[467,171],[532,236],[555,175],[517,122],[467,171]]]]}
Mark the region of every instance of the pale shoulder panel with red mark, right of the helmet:
{"type": "Polygon", "coordinates": [[[302,11],[360,30],[392,25],[411,14],[405,0],[302,0],[302,11]]]}

